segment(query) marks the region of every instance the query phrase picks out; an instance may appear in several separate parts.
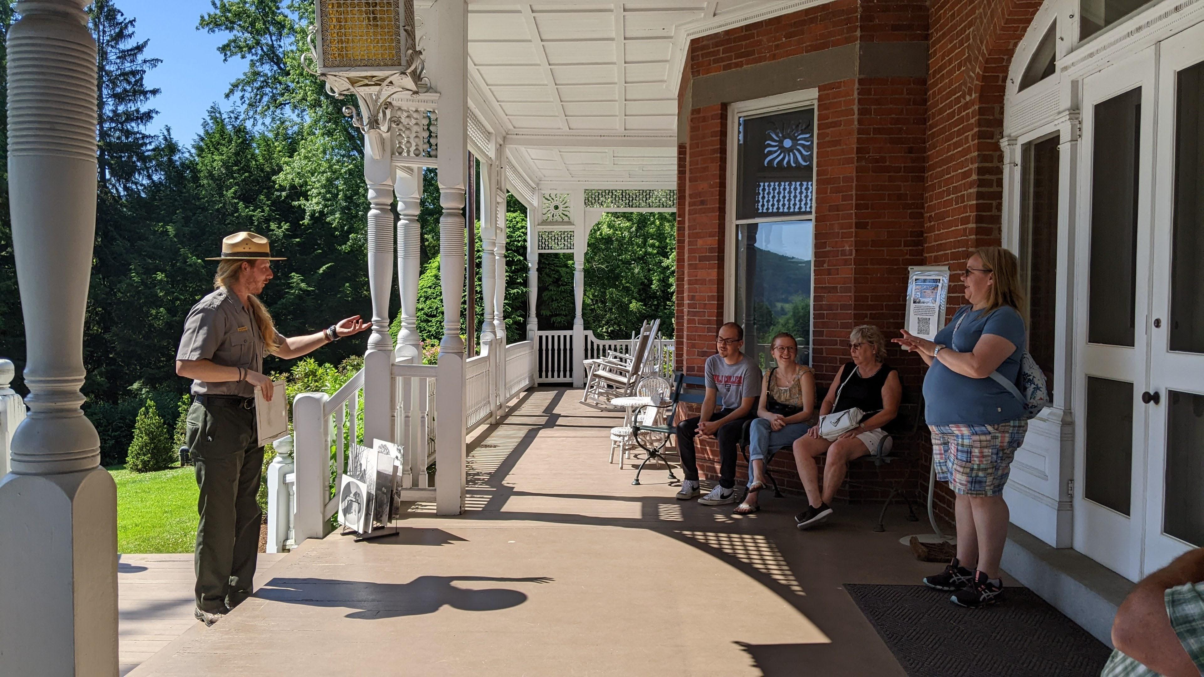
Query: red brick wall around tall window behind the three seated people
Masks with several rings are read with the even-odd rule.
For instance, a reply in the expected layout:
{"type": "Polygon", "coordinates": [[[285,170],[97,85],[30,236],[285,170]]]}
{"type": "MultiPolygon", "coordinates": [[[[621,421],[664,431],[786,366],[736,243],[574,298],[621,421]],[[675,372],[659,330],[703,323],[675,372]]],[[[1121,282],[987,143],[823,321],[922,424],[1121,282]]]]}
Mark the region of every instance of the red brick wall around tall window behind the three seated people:
{"type": "MultiPolygon", "coordinates": [[[[691,45],[683,92],[690,77],[858,40],[923,41],[927,19],[923,2],[844,0],[704,36],[691,45]]],[[[814,365],[825,390],[849,359],[852,326],[873,323],[890,335],[902,325],[907,266],[925,261],[927,94],[923,78],[849,78],[819,87],[813,325],[814,365]]],[[[679,147],[677,345],[678,369],[687,373],[701,373],[714,353],[722,319],[730,246],[726,110],[689,111],[687,142],[679,147]]],[[[895,351],[891,360],[903,367],[905,384],[917,388],[919,366],[895,351]]],[[[698,451],[703,476],[718,476],[718,451],[706,445],[698,451]]],[[[774,459],[773,471],[785,488],[802,489],[789,454],[774,459]]],[[[850,478],[874,481],[877,472],[855,464],[850,478]]]]}

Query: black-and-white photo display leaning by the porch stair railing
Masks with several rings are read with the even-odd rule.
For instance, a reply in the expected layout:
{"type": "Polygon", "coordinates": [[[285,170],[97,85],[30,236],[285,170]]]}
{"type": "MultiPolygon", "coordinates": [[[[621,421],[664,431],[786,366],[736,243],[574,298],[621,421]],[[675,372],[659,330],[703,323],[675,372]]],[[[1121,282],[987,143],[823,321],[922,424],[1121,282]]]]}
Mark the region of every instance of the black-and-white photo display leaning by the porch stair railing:
{"type": "Polygon", "coordinates": [[[396,535],[397,528],[390,523],[401,512],[401,452],[393,442],[372,442],[372,447],[350,446],[347,472],[340,479],[338,523],[343,534],[356,534],[356,542],[396,535]]]}

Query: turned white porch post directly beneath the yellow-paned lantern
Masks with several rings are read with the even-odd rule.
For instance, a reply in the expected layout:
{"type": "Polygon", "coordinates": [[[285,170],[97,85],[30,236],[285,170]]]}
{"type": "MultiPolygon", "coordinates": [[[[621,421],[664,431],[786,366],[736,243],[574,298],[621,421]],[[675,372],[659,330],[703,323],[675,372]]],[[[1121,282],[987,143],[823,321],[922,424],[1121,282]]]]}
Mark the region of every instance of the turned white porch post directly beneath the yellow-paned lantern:
{"type": "MultiPolygon", "coordinates": [[[[390,136],[390,146],[391,136],[390,136]]],[[[364,354],[364,440],[393,441],[393,337],[389,336],[389,293],[393,287],[393,158],[374,158],[364,143],[364,181],[368,186],[368,289],[372,334],[364,354]]]]}

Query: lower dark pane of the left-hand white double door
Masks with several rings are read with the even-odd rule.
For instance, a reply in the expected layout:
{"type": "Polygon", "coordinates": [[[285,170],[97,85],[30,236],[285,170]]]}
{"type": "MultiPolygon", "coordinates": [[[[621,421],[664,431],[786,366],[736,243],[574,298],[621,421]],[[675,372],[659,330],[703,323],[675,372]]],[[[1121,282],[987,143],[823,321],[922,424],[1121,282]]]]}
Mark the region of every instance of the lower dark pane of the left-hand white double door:
{"type": "Polygon", "coordinates": [[[1086,423],[1082,495],[1127,516],[1133,481],[1133,384],[1088,376],[1086,423]]]}

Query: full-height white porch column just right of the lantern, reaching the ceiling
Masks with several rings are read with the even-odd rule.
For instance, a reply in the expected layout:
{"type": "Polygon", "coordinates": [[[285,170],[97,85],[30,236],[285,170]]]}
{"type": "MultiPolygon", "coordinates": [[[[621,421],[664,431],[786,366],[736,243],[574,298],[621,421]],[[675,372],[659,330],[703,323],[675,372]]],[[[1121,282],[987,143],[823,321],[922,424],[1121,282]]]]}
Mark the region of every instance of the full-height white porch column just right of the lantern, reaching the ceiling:
{"type": "Polygon", "coordinates": [[[433,6],[436,35],[430,60],[439,92],[439,276],[443,285],[443,340],[436,395],[435,512],[464,512],[465,345],[460,338],[460,299],[465,276],[465,187],[467,177],[468,4],[442,0],[433,6]]]}

